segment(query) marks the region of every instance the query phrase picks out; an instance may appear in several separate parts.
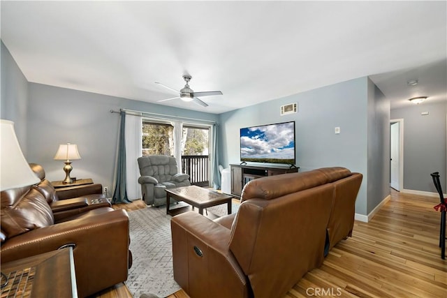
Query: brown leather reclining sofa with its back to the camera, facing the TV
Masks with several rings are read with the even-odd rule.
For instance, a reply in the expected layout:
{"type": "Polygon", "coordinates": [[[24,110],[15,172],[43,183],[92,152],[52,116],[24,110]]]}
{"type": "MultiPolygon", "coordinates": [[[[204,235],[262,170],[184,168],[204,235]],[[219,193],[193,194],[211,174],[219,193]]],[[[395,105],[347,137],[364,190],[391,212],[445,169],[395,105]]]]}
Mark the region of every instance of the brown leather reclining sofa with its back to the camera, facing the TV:
{"type": "Polygon", "coordinates": [[[171,220],[174,279],[191,298],[284,297],[351,236],[362,174],[344,167],[250,181],[237,214],[171,220]]]}

